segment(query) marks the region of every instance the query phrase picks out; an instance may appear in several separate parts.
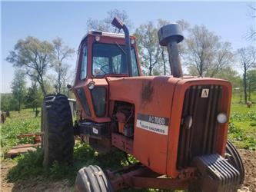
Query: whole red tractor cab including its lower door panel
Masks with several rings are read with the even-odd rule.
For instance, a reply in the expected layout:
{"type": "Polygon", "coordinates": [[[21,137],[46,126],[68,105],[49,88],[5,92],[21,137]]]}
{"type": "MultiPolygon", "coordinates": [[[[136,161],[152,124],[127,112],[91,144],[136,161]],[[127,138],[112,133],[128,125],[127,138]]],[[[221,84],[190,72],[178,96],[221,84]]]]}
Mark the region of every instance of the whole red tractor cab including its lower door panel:
{"type": "Polygon", "coordinates": [[[108,77],[141,76],[137,46],[130,36],[127,48],[125,35],[89,31],[78,49],[75,84],[72,90],[81,102],[82,118],[106,122],[108,118],[108,77]],[[128,62],[128,51],[131,50],[128,62]],[[128,64],[129,63],[129,64],[128,64]]]}

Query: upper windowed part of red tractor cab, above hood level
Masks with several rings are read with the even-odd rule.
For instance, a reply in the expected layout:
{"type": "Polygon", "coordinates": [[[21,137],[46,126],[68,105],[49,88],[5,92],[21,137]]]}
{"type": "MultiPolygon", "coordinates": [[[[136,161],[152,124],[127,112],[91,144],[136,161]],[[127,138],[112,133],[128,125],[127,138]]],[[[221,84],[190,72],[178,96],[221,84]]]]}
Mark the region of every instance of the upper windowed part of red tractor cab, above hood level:
{"type": "MultiPolygon", "coordinates": [[[[131,75],[128,73],[125,36],[89,31],[82,39],[78,51],[78,74],[80,80],[105,78],[105,76],[138,76],[138,55],[135,37],[131,38],[131,75]]],[[[78,80],[79,80],[78,79],[78,80]]],[[[76,81],[78,81],[76,79],[76,81]]]]}

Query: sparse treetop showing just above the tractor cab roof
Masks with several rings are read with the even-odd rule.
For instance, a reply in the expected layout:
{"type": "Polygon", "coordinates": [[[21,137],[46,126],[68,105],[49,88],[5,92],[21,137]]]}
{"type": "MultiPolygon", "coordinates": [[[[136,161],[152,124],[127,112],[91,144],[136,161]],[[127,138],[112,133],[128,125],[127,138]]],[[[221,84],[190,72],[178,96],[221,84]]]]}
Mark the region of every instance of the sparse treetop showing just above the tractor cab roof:
{"type": "Polygon", "coordinates": [[[109,32],[113,32],[113,33],[123,33],[122,30],[119,30],[118,28],[115,28],[115,26],[111,25],[111,22],[113,20],[113,18],[118,17],[121,19],[122,22],[125,23],[126,26],[128,26],[128,28],[131,30],[132,28],[132,24],[131,21],[128,18],[127,13],[122,10],[118,10],[118,9],[111,9],[108,12],[108,16],[102,20],[98,20],[98,19],[93,19],[93,18],[88,18],[86,25],[88,30],[97,30],[97,31],[109,31],[109,32]]]}

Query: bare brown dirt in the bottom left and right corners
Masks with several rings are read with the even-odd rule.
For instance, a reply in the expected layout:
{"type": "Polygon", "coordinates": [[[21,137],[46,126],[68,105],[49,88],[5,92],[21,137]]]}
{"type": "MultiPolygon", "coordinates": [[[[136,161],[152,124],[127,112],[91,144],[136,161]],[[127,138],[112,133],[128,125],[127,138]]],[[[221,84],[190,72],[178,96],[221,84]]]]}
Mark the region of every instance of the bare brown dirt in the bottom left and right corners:
{"type": "MultiPolygon", "coordinates": [[[[238,191],[256,192],[256,152],[239,149],[239,153],[244,161],[245,179],[244,184],[238,191]]],[[[15,164],[10,161],[1,164],[1,191],[47,191],[47,192],[66,192],[72,191],[68,180],[42,181],[40,178],[30,180],[18,180],[15,183],[8,183],[6,176],[15,164]]]]}

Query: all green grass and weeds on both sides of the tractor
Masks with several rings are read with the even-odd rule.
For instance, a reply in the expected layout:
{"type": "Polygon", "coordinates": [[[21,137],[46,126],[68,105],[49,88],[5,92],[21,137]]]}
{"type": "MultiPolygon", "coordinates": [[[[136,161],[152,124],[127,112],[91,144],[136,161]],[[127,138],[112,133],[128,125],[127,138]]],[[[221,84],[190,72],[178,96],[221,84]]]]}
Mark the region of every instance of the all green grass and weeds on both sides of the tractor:
{"type": "MultiPolygon", "coordinates": [[[[234,142],[237,147],[243,147],[250,150],[256,149],[256,106],[247,108],[245,104],[239,103],[240,98],[234,95],[231,104],[231,119],[229,123],[228,138],[234,142]]],[[[26,134],[40,131],[40,115],[35,118],[35,113],[31,109],[22,110],[20,114],[11,111],[11,118],[7,118],[1,129],[1,147],[2,151],[8,151],[10,147],[16,144],[25,144],[32,142],[31,139],[17,138],[18,134],[26,134]]],[[[52,167],[46,169],[42,167],[42,149],[38,147],[37,151],[20,155],[12,160],[16,166],[8,173],[8,180],[25,180],[38,177],[41,180],[61,180],[68,179],[73,185],[77,171],[81,167],[89,164],[97,164],[103,170],[115,170],[118,167],[127,165],[125,154],[115,150],[110,154],[98,154],[88,144],[75,144],[74,163],[72,165],[60,164],[55,162],[52,167]]],[[[5,160],[6,161],[6,160],[5,160]]],[[[8,160],[10,161],[10,160],[8,160]]],[[[134,191],[124,190],[124,191],[134,191]]],[[[141,190],[138,190],[141,191],[141,190]]],[[[155,191],[155,190],[142,190],[155,191]]]]}

